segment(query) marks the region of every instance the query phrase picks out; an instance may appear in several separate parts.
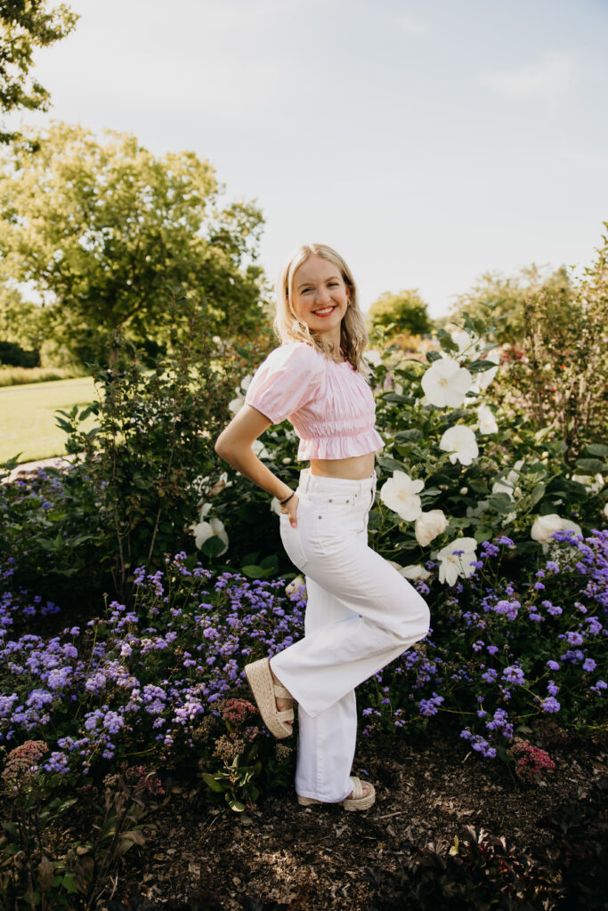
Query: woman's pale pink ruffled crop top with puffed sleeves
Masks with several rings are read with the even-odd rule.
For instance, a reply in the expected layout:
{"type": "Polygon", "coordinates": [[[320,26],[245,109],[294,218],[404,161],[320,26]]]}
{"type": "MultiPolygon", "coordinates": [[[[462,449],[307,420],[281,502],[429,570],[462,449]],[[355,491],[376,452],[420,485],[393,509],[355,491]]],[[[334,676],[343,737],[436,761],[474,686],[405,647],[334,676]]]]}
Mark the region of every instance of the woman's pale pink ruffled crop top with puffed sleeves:
{"type": "Polygon", "coordinates": [[[273,424],[286,417],[300,437],[298,459],[350,458],[384,446],[376,433],[376,403],[365,377],[304,342],[275,348],[260,364],[245,404],[273,424]]]}

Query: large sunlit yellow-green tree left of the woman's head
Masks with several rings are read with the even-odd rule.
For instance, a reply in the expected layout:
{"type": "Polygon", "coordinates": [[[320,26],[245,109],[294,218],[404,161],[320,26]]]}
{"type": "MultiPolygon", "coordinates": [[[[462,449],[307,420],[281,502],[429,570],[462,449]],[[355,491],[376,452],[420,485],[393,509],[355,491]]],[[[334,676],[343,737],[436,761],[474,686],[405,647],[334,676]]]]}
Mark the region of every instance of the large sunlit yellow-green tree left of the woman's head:
{"type": "Polygon", "coordinates": [[[0,157],[0,280],[31,282],[48,332],[82,363],[118,329],[164,350],[168,291],[204,299],[215,333],[252,333],[263,217],[221,208],[222,189],[191,151],[155,158],[133,136],[99,142],[65,123],[26,131],[0,157]]]}

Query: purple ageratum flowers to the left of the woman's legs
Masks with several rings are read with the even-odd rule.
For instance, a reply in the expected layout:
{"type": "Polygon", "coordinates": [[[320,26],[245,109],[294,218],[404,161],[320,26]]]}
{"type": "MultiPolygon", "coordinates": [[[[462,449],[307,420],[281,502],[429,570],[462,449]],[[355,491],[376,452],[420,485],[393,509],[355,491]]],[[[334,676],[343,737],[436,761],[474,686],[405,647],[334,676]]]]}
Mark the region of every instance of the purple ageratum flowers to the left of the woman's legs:
{"type": "Polygon", "coordinates": [[[52,748],[46,769],[59,773],[88,773],[100,759],[137,748],[170,761],[195,748],[193,728],[214,702],[246,689],[247,661],[303,634],[303,591],[288,598],[283,580],[214,578],[179,554],[164,573],[138,570],[136,586],[131,609],[112,602],[105,617],[50,640],[11,638],[36,612],[23,595],[5,592],[0,742],[36,733],[52,748]]]}

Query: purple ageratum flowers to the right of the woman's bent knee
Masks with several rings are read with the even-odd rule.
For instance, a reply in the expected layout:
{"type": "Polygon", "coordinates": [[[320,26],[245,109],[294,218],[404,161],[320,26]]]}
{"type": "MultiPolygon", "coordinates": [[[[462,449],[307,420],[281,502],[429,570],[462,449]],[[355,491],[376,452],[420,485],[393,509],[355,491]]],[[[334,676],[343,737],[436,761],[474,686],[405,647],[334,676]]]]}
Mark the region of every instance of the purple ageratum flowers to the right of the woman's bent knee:
{"type": "Polygon", "coordinates": [[[544,566],[517,580],[500,570],[500,549],[512,546],[508,537],[483,545],[473,575],[451,588],[427,579],[428,638],[370,681],[364,735],[451,717],[491,759],[504,756],[518,724],[552,716],[584,730],[603,717],[608,531],[556,532],[544,566]]]}

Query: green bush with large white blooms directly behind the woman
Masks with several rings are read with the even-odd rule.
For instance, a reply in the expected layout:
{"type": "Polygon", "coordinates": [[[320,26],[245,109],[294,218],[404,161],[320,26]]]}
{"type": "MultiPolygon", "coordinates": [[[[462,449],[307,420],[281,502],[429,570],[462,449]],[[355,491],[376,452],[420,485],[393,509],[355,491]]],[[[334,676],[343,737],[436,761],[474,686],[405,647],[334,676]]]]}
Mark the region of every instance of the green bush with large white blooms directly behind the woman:
{"type": "MultiPolygon", "coordinates": [[[[515,546],[511,559],[525,561],[546,552],[553,531],[588,534],[603,519],[608,446],[590,442],[590,457],[570,464],[560,440],[522,428],[510,405],[500,404],[496,412],[489,407],[507,357],[491,341],[493,328],[466,316],[451,333],[439,330],[424,359],[392,345],[369,353],[376,426],[385,442],[376,458],[370,543],[407,578],[413,567],[438,559],[441,580],[452,585],[455,573],[463,576],[469,566],[469,559],[455,561],[455,550],[467,549],[474,558],[483,541],[508,534],[515,546]],[[592,469],[587,484],[583,472],[592,469]]],[[[242,378],[233,411],[250,378],[242,378]]],[[[495,398],[502,403],[500,394],[495,398]]],[[[299,476],[295,444],[287,423],[257,441],[264,464],[293,487],[299,476]]],[[[231,468],[223,477],[222,489],[201,509],[205,533],[213,519],[220,522],[225,565],[271,578],[284,566],[276,504],[231,468]]]]}

